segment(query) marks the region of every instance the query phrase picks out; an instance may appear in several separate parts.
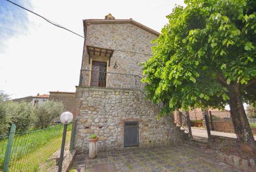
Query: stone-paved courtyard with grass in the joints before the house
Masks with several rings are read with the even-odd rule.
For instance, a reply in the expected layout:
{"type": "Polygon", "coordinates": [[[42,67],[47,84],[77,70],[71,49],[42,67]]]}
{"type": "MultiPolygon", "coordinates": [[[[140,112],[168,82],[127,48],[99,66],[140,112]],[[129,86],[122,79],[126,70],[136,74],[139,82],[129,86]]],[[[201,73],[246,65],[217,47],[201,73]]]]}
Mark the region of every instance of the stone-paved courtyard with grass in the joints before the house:
{"type": "Polygon", "coordinates": [[[72,172],[92,172],[95,165],[110,162],[116,166],[114,171],[243,171],[219,162],[215,157],[214,151],[187,144],[159,149],[113,151],[100,153],[95,159],[78,155],[72,172]]]}

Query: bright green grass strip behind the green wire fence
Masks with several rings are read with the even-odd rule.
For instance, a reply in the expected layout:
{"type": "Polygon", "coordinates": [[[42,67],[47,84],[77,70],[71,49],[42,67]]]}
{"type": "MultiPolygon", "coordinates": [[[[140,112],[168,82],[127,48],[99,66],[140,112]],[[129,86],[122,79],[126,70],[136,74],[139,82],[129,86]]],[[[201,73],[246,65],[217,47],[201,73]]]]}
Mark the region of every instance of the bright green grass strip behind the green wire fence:
{"type": "MultiPolygon", "coordinates": [[[[72,124],[68,125],[66,142],[70,141],[72,124]]],[[[49,158],[61,147],[63,125],[48,129],[15,133],[9,171],[38,171],[50,165],[49,158]]],[[[8,139],[0,140],[0,164],[4,163],[8,139]],[[3,149],[1,149],[3,148],[3,149]]],[[[52,162],[52,161],[50,161],[52,162]]],[[[2,166],[0,165],[0,171],[2,166]]]]}

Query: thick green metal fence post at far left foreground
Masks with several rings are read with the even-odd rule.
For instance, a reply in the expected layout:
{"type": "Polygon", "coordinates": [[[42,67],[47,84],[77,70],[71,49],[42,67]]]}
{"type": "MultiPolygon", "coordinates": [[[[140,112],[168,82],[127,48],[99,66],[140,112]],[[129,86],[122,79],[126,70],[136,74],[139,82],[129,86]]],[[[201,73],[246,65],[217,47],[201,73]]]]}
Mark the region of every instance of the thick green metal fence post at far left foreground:
{"type": "Polygon", "coordinates": [[[4,168],[3,168],[4,172],[8,172],[15,130],[16,130],[16,126],[15,126],[15,124],[13,124],[11,127],[8,144],[7,144],[7,149],[6,149],[6,153],[5,153],[5,162],[4,162],[4,168]]]}

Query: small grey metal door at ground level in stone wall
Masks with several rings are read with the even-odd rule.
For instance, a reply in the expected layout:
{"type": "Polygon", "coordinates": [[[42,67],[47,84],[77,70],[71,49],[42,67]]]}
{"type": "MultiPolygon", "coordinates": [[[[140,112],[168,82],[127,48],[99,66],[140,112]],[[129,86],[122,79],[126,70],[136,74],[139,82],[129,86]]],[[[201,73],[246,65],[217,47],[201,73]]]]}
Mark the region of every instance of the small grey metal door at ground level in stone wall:
{"type": "Polygon", "coordinates": [[[124,147],[139,145],[138,121],[124,122],[124,147]]]}

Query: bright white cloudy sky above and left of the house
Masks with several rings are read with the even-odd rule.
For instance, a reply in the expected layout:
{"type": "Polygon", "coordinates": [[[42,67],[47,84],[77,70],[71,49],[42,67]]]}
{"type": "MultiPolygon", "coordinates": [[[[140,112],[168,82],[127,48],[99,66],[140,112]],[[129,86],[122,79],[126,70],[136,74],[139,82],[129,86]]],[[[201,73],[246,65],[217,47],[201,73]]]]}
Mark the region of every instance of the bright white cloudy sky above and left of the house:
{"type": "MultiPolygon", "coordinates": [[[[182,1],[176,3],[183,4],[182,1]]],[[[173,2],[164,0],[34,0],[27,5],[34,12],[80,35],[83,35],[82,19],[103,19],[109,13],[116,19],[133,18],[160,32],[167,23],[165,16],[174,8],[173,2]]],[[[26,20],[13,23],[17,18],[12,10],[0,11],[0,27],[5,33],[15,28],[14,36],[8,36],[8,33],[0,35],[1,42],[5,44],[3,51],[0,51],[0,90],[12,94],[12,98],[36,95],[38,92],[75,91],[79,82],[83,39],[24,10],[23,14],[19,14],[26,16],[26,20]],[[8,22],[3,22],[3,16],[8,16],[5,18],[8,22]]]]}

